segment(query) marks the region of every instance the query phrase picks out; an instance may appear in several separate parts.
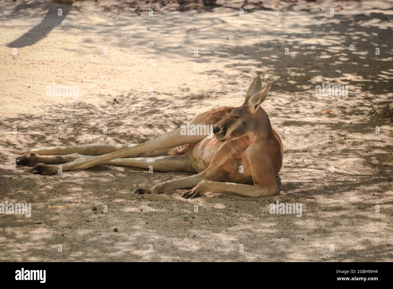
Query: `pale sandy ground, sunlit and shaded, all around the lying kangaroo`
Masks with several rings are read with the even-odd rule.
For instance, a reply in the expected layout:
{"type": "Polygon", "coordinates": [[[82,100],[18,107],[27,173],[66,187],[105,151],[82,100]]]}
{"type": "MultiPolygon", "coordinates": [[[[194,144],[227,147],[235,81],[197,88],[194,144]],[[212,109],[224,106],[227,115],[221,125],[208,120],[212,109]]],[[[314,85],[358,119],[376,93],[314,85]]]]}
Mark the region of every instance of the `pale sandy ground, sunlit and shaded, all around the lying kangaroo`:
{"type": "Polygon", "coordinates": [[[393,96],[392,4],[303,10],[149,17],[1,1],[0,201],[30,202],[32,215],[0,215],[0,261],[391,261],[392,126],[370,113],[393,96]],[[190,174],[15,165],[14,149],[144,142],[241,105],[256,75],[272,84],[263,107],[285,149],[277,197],[134,195],[190,174]],[[348,99],[317,97],[322,82],[349,85],[348,99]],[[47,96],[52,83],[79,97],[47,96]],[[302,217],[270,214],[276,201],[301,203],[302,217]]]}

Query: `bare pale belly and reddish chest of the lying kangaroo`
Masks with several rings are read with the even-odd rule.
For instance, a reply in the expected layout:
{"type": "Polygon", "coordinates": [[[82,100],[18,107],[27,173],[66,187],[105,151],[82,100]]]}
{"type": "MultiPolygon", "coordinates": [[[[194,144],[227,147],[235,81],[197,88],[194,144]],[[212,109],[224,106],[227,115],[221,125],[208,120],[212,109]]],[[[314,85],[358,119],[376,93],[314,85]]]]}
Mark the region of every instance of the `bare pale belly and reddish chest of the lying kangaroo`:
{"type": "MultiPolygon", "coordinates": [[[[240,142],[240,140],[238,140],[240,142]]],[[[213,157],[220,151],[220,161],[222,166],[220,169],[225,172],[222,179],[224,182],[252,183],[250,163],[247,159],[245,150],[246,146],[231,140],[231,144],[225,144],[227,147],[237,149],[226,149],[223,142],[219,142],[216,138],[204,138],[193,147],[190,152],[190,160],[198,173],[208,168],[213,157]]]]}

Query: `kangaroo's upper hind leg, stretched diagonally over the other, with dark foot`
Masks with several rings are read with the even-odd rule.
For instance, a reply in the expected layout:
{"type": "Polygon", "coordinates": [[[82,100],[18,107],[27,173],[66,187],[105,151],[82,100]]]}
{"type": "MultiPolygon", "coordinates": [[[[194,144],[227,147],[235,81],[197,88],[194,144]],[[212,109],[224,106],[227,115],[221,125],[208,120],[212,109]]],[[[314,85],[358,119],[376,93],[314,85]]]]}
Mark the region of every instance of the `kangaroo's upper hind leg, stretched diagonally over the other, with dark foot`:
{"type": "MultiPolygon", "coordinates": [[[[106,155],[95,156],[94,158],[86,159],[83,161],[68,162],[62,165],[62,171],[69,171],[72,169],[87,169],[91,168],[97,164],[104,164],[109,160],[114,160],[116,158],[124,158],[130,155],[138,155],[141,153],[146,153],[149,151],[157,151],[164,149],[171,149],[185,144],[197,143],[204,139],[206,135],[182,135],[182,129],[176,129],[168,133],[162,134],[157,138],[149,140],[143,144],[134,145],[126,149],[121,149],[119,151],[114,151],[106,155]]],[[[38,173],[40,175],[51,175],[57,173],[57,166],[48,166],[45,164],[37,164],[37,166],[31,168],[31,173],[38,173]]]]}

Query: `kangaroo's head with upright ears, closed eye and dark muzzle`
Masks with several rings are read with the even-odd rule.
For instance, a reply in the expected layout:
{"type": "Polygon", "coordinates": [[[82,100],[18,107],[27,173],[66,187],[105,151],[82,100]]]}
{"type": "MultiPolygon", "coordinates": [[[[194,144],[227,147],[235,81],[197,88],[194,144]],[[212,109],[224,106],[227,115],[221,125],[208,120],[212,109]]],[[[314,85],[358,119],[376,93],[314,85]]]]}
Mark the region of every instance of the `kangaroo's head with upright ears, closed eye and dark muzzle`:
{"type": "Polygon", "coordinates": [[[261,103],[269,94],[270,85],[262,90],[261,77],[257,76],[246,93],[242,106],[233,109],[228,116],[222,118],[213,126],[217,140],[224,142],[247,134],[255,134],[255,129],[261,125],[261,103]]]}

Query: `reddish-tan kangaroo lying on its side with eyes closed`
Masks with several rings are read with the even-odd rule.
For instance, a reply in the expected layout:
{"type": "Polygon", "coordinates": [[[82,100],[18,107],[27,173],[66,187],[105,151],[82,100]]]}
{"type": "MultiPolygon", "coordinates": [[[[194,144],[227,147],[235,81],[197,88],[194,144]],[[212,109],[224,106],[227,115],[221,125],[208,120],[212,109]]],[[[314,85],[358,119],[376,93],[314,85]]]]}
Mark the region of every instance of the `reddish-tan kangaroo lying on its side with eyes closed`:
{"type": "Polygon", "coordinates": [[[143,144],[76,145],[17,151],[17,165],[33,166],[34,174],[51,175],[97,164],[154,171],[184,171],[195,175],[169,180],[134,193],[164,193],[188,189],[185,199],[207,192],[244,197],[279,195],[275,176],[283,163],[283,145],[260,106],[270,85],[262,90],[255,77],[240,107],[221,107],[196,116],[190,124],[213,125],[213,134],[182,135],[181,129],[143,144]],[[61,166],[46,164],[64,163],[61,166]]]}

